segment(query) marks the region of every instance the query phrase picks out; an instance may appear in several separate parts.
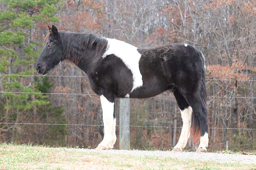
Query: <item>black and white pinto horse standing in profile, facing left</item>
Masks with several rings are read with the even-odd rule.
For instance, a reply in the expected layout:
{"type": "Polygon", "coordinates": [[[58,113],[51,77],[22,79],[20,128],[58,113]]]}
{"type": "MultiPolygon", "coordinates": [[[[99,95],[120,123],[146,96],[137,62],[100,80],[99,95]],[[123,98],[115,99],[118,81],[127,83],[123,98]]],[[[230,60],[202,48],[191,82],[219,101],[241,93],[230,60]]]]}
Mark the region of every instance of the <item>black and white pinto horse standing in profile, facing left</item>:
{"type": "Polygon", "coordinates": [[[200,135],[197,152],[207,150],[205,61],[200,51],[188,44],[140,49],[116,39],[58,31],[53,25],[48,29],[36,70],[47,74],[68,59],[88,75],[103,111],[104,137],[96,149],[112,149],[116,142],[115,98],[147,98],[169,90],[183,121],[173,151],[182,151],[189,136],[200,135]]]}

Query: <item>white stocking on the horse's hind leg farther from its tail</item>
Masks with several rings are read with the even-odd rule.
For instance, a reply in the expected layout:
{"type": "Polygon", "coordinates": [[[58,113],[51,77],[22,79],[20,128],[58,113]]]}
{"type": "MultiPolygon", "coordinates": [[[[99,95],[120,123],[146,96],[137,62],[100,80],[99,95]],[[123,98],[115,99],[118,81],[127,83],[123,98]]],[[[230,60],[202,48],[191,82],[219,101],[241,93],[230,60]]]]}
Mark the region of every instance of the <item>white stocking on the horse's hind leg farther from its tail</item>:
{"type": "Polygon", "coordinates": [[[191,119],[192,119],[192,108],[189,106],[188,108],[184,109],[183,111],[180,111],[181,118],[182,118],[182,129],[180,133],[180,138],[178,143],[175,145],[174,148],[178,148],[182,150],[188,142],[189,134],[190,134],[190,125],[191,125],[191,119]]]}

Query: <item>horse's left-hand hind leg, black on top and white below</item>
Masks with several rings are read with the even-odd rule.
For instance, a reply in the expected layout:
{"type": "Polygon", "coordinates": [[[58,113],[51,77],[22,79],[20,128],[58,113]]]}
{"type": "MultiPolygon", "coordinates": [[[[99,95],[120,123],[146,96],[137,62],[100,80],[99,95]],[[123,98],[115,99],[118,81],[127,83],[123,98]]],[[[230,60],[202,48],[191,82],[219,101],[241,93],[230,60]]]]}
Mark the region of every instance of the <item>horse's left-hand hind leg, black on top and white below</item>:
{"type": "Polygon", "coordinates": [[[192,118],[192,108],[189,106],[186,99],[182,96],[182,94],[180,94],[178,90],[175,90],[173,94],[177,101],[177,105],[180,108],[183,124],[182,124],[179,141],[175,145],[172,151],[182,151],[182,149],[186,146],[189,138],[191,118],[192,118]]]}

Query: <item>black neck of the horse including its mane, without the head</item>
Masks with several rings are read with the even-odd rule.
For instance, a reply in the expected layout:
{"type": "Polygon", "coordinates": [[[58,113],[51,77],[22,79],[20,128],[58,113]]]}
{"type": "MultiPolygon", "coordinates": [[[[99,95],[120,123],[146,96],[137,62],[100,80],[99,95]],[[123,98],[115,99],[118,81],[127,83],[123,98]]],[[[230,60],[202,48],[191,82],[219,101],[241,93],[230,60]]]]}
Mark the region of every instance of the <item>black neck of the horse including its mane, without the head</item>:
{"type": "Polygon", "coordinates": [[[86,35],[64,31],[61,32],[60,40],[65,59],[74,62],[86,74],[90,74],[102,61],[102,55],[105,53],[108,42],[107,40],[104,42],[99,37],[93,37],[92,34],[87,37],[86,35]]]}

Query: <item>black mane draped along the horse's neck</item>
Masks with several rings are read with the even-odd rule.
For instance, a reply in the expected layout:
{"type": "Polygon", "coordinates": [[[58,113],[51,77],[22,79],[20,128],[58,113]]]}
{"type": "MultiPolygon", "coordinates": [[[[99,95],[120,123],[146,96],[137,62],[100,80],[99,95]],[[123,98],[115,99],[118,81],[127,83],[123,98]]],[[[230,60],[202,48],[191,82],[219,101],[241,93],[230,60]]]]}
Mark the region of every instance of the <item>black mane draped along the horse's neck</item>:
{"type": "Polygon", "coordinates": [[[68,58],[82,57],[81,55],[83,55],[85,51],[91,49],[96,49],[96,51],[104,53],[108,46],[108,40],[94,34],[60,31],[59,36],[64,54],[67,55],[68,58]]]}

